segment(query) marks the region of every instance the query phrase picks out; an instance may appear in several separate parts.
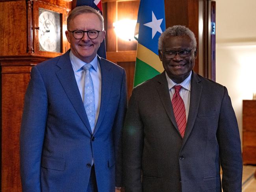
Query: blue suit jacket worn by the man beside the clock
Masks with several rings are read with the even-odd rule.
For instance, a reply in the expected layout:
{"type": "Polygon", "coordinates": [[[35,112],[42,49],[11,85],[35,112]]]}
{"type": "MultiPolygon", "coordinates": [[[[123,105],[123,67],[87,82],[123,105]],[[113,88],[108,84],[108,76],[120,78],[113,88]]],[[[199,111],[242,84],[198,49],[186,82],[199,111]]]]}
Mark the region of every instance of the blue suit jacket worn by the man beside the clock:
{"type": "Polygon", "coordinates": [[[121,186],[121,129],[126,112],[123,68],[98,57],[100,113],[94,133],[83,107],[69,51],[31,71],[20,129],[23,192],[84,192],[94,157],[99,192],[121,186]]]}

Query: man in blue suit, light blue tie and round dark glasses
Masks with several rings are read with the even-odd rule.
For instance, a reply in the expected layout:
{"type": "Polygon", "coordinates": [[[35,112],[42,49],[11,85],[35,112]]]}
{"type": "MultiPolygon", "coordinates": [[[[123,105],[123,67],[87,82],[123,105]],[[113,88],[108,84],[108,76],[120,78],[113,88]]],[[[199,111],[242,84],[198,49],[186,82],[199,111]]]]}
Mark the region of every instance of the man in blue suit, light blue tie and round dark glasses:
{"type": "Polygon", "coordinates": [[[20,130],[22,189],[120,191],[126,74],[97,55],[106,32],[95,9],[73,9],[67,29],[71,50],[31,71],[20,130]]]}

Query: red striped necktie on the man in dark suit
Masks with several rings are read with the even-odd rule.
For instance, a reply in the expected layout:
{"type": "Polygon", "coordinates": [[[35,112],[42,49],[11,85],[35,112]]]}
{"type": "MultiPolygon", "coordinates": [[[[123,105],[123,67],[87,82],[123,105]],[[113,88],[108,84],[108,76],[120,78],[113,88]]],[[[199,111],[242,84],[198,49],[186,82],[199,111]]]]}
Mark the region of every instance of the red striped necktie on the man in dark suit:
{"type": "Polygon", "coordinates": [[[187,120],[186,120],[185,105],[179,93],[181,88],[182,88],[181,85],[174,86],[175,92],[173,94],[172,104],[173,104],[173,112],[176,119],[176,123],[180,131],[180,135],[183,138],[185,129],[186,129],[187,120]]]}

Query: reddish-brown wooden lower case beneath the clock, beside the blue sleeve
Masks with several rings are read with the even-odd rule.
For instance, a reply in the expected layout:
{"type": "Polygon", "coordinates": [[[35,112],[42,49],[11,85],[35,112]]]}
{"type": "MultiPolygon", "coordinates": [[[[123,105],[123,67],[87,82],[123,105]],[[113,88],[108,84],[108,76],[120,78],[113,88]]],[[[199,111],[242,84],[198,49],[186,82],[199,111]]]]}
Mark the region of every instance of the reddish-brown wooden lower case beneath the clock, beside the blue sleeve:
{"type": "Polygon", "coordinates": [[[19,134],[30,66],[2,65],[2,192],[20,191],[19,134]]]}

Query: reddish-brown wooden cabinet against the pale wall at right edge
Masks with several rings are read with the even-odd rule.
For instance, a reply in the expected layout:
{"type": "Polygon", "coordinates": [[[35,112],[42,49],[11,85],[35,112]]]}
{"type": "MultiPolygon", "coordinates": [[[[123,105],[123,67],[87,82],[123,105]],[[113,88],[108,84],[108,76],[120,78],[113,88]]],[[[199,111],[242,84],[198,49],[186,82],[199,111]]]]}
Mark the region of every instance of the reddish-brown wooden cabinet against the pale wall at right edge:
{"type": "Polygon", "coordinates": [[[243,164],[256,164],[256,100],[243,100],[243,164]]]}

